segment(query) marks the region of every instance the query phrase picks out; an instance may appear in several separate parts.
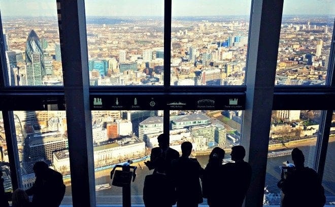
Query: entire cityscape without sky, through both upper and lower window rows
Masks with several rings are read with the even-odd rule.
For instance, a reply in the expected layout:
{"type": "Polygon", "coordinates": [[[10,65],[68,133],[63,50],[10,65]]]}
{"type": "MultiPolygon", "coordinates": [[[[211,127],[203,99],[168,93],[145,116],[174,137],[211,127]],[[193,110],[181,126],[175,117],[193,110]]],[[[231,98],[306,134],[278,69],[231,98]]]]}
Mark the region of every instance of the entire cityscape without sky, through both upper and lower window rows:
{"type": "MultiPolygon", "coordinates": [[[[1,18],[7,85],[62,86],[62,45],[57,16],[9,15],[1,18]]],[[[89,84],[163,86],[164,73],[170,73],[171,86],[245,85],[249,27],[250,16],[242,14],[191,16],[173,13],[171,25],[164,25],[162,14],[86,15],[89,84]],[[169,55],[164,48],[164,26],[171,26],[169,55]],[[166,63],[169,56],[171,67],[164,70],[164,59],[166,63]]],[[[327,85],[332,33],[333,15],[283,15],[275,85],[327,85]]],[[[266,193],[264,190],[264,205],[280,202],[280,189],[273,184],[280,178],[280,171],[274,169],[278,170],[282,161],[289,159],[294,146],[306,147],[306,153],[314,156],[310,148],[316,145],[320,114],[321,111],[316,110],[273,111],[268,156],[268,166],[273,168],[266,171],[265,185],[269,187],[266,193]]],[[[8,162],[4,120],[0,115],[1,161],[8,162]]],[[[97,202],[105,202],[107,196],[110,202],[120,198],[117,196],[122,192],[110,185],[110,170],[129,159],[139,167],[132,194],[137,196],[135,201],[142,202],[143,179],[150,173],[143,161],[149,159],[151,149],[158,146],[163,116],[170,117],[170,147],[180,152],[181,143],[191,142],[191,156],[203,167],[214,147],[223,148],[226,151],[224,161],[230,162],[229,150],[241,144],[243,110],[171,110],[170,114],[163,114],[163,111],[91,111],[97,202]]],[[[334,117],[335,114],[329,142],[335,141],[334,117]]],[[[23,188],[35,182],[33,163],[44,160],[63,175],[66,184],[63,202],[71,203],[66,112],[14,111],[14,123],[23,188]]],[[[325,176],[331,176],[333,170],[325,172],[325,176]]],[[[9,168],[3,173],[5,190],[11,191],[9,168]]],[[[333,185],[329,186],[325,190],[335,195],[333,185]]]]}

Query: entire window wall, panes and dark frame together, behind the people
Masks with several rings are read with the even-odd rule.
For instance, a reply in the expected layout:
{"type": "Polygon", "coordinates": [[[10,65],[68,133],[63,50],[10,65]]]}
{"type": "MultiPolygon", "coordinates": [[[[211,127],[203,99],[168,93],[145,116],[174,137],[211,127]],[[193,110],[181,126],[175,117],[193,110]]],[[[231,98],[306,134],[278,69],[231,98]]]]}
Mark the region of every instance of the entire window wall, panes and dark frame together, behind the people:
{"type": "MultiPolygon", "coordinates": [[[[135,140],[139,139],[142,149],[144,145],[143,157],[156,145],[155,136],[161,131],[170,133],[171,146],[176,148],[179,148],[178,142],[190,139],[189,133],[198,147],[195,150],[197,154],[193,155],[202,166],[207,164],[208,155],[200,154],[208,153],[213,146],[223,144],[227,155],[225,161],[229,161],[228,149],[231,145],[245,146],[247,157],[257,171],[253,174],[253,183],[246,197],[247,207],[254,206],[262,199],[264,181],[269,193],[280,193],[273,186],[280,176],[278,166],[285,160],[291,161],[289,155],[286,158],[267,158],[265,150],[275,142],[279,142],[280,146],[287,146],[289,143],[284,142],[287,139],[310,139],[312,144],[301,147],[307,157],[306,165],[322,165],[316,157],[328,153],[323,182],[328,201],[333,201],[333,178],[326,175],[327,170],[331,169],[328,164],[332,163],[329,156],[331,143],[328,149],[320,148],[319,141],[324,141],[324,137],[323,131],[317,126],[323,124],[323,110],[334,110],[331,105],[335,98],[332,59],[334,45],[331,45],[330,40],[333,36],[334,12],[329,1],[318,1],[317,7],[313,4],[315,2],[307,1],[295,4],[299,5],[295,7],[285,0],[282,18],[282,1],[102,0],[97,4],[91,0],[48,0],[42,3],[36,0],[0,0],[0,34],[5,33],[0,39],[8,46],[7,50],[3,46],[0,49],[0,109],[4,116],[3,125],[13,128],[6,130],[6,135],[11,134],[16,138],[14,146],[9,142],[7,145],[18,148],[15,152],[7,151],[8,157],[11,161],[14,158],[15,166],[22,172],[22,175],[18,173],[18,176],[12,176],[12,188],[30,186],[32,182],[25,182],[20,186],[21,183],[18,184],[16,180],[27,181],[27,175],[33,179],[33,175],[24,170],[29,169],[29,162],[44,159],[49,160],[50,165],[63,174],[67,185],[63,204],[73,203],[75,207],[87,203],[92,206],[111,203],[120,205],[121,189],[109,186],[111,166],[126,159],[136,160],[142,154],[131,153],[129,150],[125,151],[130,152],[126,156],[111,156],[104,150],[111,149],[108,147],[113,147],[117,142],[121,146],[126,140],[119,139],[119,135],[128,133],[131,123],[129,135],[136,137],[135,140]],[[14,12],[29,17],[21,19],[14,12]],[[312,15],[299,15],[306,12],[312,15]],[[317,12],[321,15],[314,15],[317,12]],[[309,19],[311,30],[307,29],[309,19]],[[84,20],[86,24],[82,24],[84,20]],[[316,29],[313,25],[316,25],[316,29]],[[31,30],[33,32],[28,38],[31,30]],[[294,37],[290,38],[290,35],[294,37]],[[314,36],[314,39],[309,40],[310,36],[314,36]],[[31,63],[26,62],[24,55],[28,39],[32,48],[28,51],[33,61],[31,63]],[[62,51],[62,62],[57,60],[58,42],[66,42],[58,47],[62,51]],[[301,59],[301,64],[304,65],[301,70],[287,68],[291,58],[292,61],[295,58],[300,61],[300,56],[304,56],[303,46],[305,51],[308,46],[308,52],[313,57],[321,48],[321,55],[314,60],[312,57],[310,65],[307,64],[305,54],[305,59],[301,59]],[[42,48],[44,62],[39,48],[42,48]],[[326,67],[328,50],[330,59],[326,67]],[[23,62],[17,53],[22,53],[23,62]],[[47,67],[48,58],[52,58],[52,73],[50,67],[47,67]],[[19,61],[22,62],[21,65],[19,61]],[[42,70],[43,64],[49,71],[42,70]],[[36,68],[39,70],[35,73],[36,68]],[[45,76],[42,77],[44,73],[45,76]],[[303,92],[293,91],[291,87],[274,87],[296,83],[301,83],[303,92]],[[310,87],[305,87],[306,83],[310,87]],[[11,87],[14,85],[64,87],[11,87]],[[324,86],[317,87],[318,85],[324,86]],[[268,88],[271,90],[267,90],[268,88]],[[56,104],[58,108],[46,107],[49,103],[56,104]],[[66,113],[71,114],[68,117],[64,115],[65,107],[66,113]],[[277,111],[273,111],[274,125],[270,129],[270,120],[264,123],[263,119],[270,119],[271,108],[277,111]],[[281,110],[286,111],[280,112],[281,110]],[[14,116],[8,118],[6,115],[12,112],[14,116]],[[294,119],[290,120],[290,112],[299,117],[296,125],[294,119]],[[130,119],[129,123],[128,114],[137,118],[130,119]],[[209,119],[178,121],[188,115],[203,115],[209,119]],[[146,118],[142,120],[141,117],[146,118]],[[152,117],[163,119],[163,123],[155,121],[151,125],[145,122],[152,117]],[[61,126],[64,123],[68,125],[68,134],[64,125],[61,126]],[[292,127],[284,125],[286,123],[292,127]],[[122,128],[117,128],[119,124],[122,128]],[[279,130],[280,124],[283,124],[282,129],[287,129],[285,133],[279,130]],[[192,133],[179,133],[185,130],[185,126],[192,133]],[[48,130],[47,133],[55,132],[56,137],[63,135],[70,146],[45,142],[33,149],[33,143],[39,140],[38,136],[43,136],[43,130],[48,130]],[[153,131],[148,135],[145,132],[149,130],[153,131]],[[176,130],[178,133],[174,134],[176,130]],[[274,133],[268,133],[270,130],[274,133]],[[250,131],[260,132],[261,135],[249,133],[250,131]],[[315,136],[315,133],[319,134],[318,140],[310,137],[315,136]],[[29,136],[33,139],[32,142],[29,142],[29,136]],[[29,151],[25,150],[27,148],[29,151]],[[57,152],[53,152],[54,148],[57,148],[57,152]],[[54,157],[66,164],[55,166],[54,157]],[[69,161],[72,177],[68,171],[69,161]],[[82,196],[82,192],[88,196],[82,196]]],[[[1,126],[0,121],[0,128],[1,126]]],[[[302,143],[304,142],[299,144],[302,143]]],[[[7,145],[4,145],[3,137],[3,149],[7,145]]],[[[141,179],[151,172],[146,167],[141,170],[141,166],[144,166],[141,162],[135,164],[139,167],[138,178],[132,183],[131,201],[143,206],[141,179]]],[[[331,172],[329,175],[332,175],[331,172]]],[[[265,201],[269,200],[269,193],[266,193],[265,201]]]]}

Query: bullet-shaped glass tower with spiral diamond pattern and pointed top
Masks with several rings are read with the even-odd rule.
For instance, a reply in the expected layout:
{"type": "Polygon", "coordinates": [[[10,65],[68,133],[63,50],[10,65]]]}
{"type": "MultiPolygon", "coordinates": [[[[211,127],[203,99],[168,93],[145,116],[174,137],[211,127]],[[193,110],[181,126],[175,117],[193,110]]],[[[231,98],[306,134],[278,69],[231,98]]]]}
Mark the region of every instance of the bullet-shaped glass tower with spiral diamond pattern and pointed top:
{"type": "MultiPolygon", "coordinates": [[[[41,68],[41,72],[37,72],[36,68],[34,69],[34,72],[36,72],[36,74],[41,73],[41,82],[42,82],[42,78],[45,76],[45,67],[44,67],[44,55],[43,55],[43,50],[41,47],[41,43],[40,43],[40,39],[37,36],[36,32],[34,30],[31,30],[28,34],[28,38],[27,38],[27,43],[26,43],[26,49],[25,49],[25,62],[27,64],[31,64],[33,61],[33,54],[39,54],[39,59],[40,59],[40,68],[41,68]]],[[[35,57],[37,58],[37,55],[35,55],[35,57]]],[[[37,59],[35,59],[37,60],[37,59]]],[[[38,64],[36,61],[34,62],[34,64],[38,64]]],[[[27,72],[27,76],[28,76],[28,72],[27,72]]]]}

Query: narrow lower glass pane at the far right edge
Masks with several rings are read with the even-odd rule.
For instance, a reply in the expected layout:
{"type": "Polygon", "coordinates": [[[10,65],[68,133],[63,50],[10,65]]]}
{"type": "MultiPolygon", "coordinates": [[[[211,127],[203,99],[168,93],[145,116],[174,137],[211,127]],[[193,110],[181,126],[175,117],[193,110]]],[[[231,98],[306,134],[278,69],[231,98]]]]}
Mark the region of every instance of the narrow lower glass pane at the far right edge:
{"type": "Polygon", "coordinates": [[[326,204],[335,203],[335,181],[334,181],[334,166],[335,166],[335,111],[332,114],[331,120],[331,128],[329,135],[329,143],[326,155],[326,163],[324,165],[323,172],[323,181],[322,185],[324,187],[325,195],[326,195],[326,204]]]}

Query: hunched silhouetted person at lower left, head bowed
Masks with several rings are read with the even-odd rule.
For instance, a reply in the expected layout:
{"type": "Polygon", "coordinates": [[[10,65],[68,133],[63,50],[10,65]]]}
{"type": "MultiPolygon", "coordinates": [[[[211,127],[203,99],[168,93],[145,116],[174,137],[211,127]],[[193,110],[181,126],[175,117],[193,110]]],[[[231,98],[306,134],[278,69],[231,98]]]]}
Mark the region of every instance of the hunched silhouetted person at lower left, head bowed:
{"type": "Polygon", "coordinates": [[[65,193],[65,185],[62,175],[50,169],[43,161],[33,165],[35,172],[35,183],[25,192],[32,195],[32,206],[34,207],[58,207],[65,193]]]}

